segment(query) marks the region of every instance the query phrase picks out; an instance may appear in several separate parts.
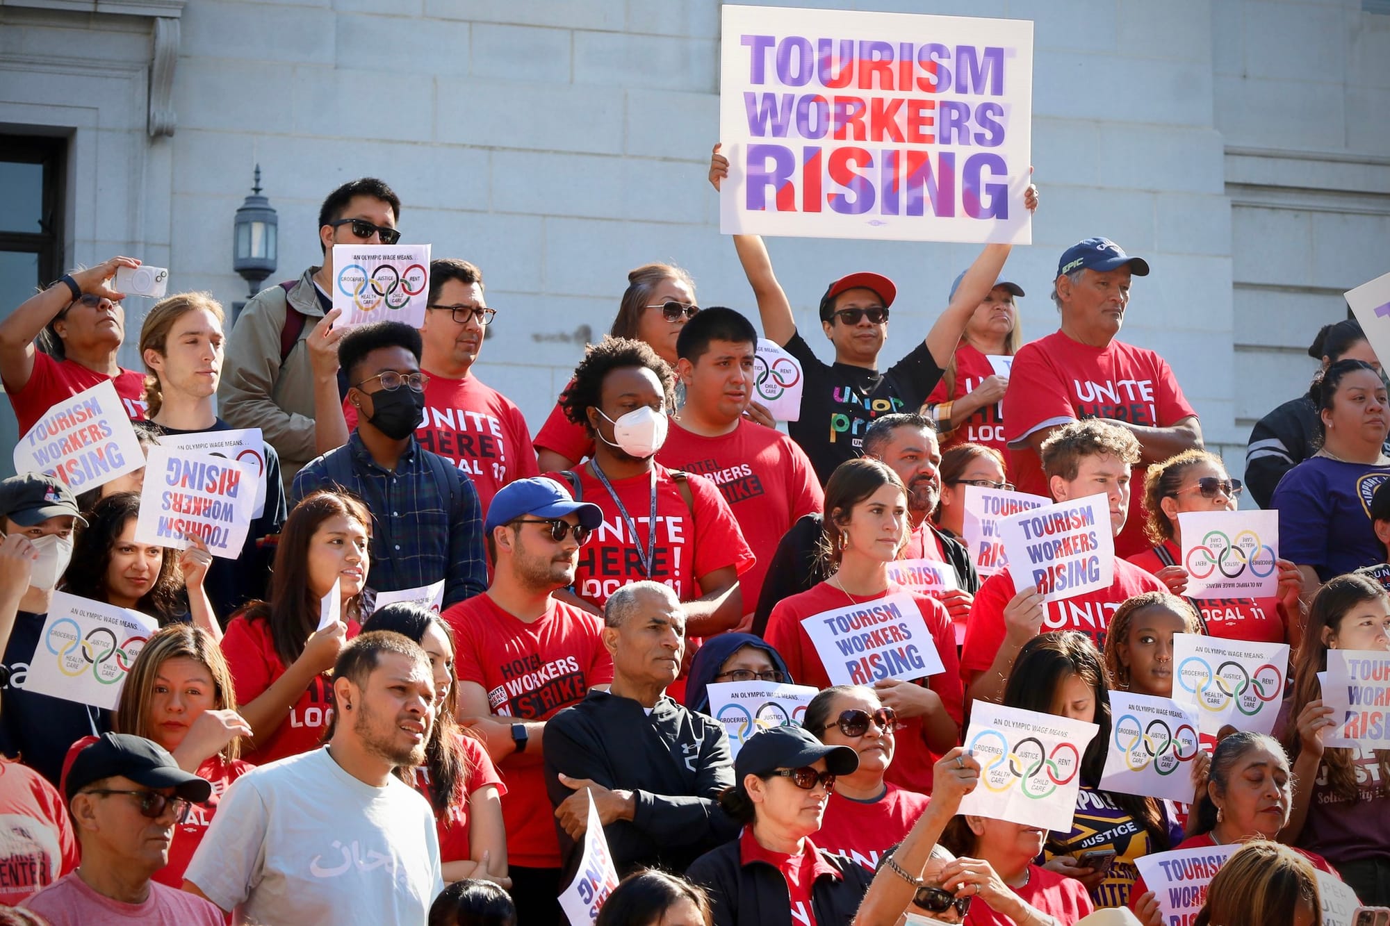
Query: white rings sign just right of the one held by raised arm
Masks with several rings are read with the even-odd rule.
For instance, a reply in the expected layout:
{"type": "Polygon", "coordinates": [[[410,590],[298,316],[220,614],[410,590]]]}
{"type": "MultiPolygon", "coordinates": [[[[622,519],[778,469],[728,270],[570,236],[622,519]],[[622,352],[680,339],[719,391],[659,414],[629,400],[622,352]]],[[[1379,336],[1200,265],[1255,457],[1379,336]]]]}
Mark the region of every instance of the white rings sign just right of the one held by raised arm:
{"type": "Polygon", "coordinates": [[[1201,751],[1197,706],[1172,698],[1111,692],[1111,741],[1102,791],[1193,802],[1193,761],[1201,751]]]}

